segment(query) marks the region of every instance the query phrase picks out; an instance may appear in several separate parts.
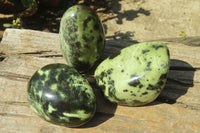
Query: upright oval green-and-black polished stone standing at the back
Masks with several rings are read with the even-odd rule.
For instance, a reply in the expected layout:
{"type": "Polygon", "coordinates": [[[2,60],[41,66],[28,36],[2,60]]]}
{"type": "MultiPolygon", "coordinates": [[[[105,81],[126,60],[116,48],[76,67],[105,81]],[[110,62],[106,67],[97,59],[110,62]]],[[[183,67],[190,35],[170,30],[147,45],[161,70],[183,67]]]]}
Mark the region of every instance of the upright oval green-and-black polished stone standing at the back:
{"type": "Polygon", "coordinates": [[[103,26],[97,14],[89,7],[70,7],[61,19],[59,35],[65,59],[78,70],[91,68],[103,53],[103,26]]]}

